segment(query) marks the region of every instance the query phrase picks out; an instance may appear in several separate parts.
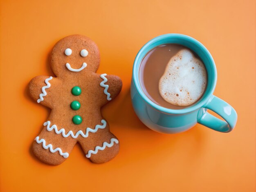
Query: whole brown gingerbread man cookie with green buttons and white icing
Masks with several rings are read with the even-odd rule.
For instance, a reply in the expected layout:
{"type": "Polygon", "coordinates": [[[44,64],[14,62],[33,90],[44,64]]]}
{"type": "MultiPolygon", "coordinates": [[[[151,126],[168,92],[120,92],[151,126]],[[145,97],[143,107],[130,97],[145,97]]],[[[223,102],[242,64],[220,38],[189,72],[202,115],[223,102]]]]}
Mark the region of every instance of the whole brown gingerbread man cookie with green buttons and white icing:
{"type": "Polygon", "coordinates": [[[78,142],[93,163],[105,163],[119,151],[119,141],[101,116],[101,107],[121,91],[118,76],[97,74],[100,56],[88,37],[67,36],[54,45],[50,66],[56,77],[37,76],[29,83],[31,97],[52,109],[32,144],[34,154],[59,165],[78,142]]]}

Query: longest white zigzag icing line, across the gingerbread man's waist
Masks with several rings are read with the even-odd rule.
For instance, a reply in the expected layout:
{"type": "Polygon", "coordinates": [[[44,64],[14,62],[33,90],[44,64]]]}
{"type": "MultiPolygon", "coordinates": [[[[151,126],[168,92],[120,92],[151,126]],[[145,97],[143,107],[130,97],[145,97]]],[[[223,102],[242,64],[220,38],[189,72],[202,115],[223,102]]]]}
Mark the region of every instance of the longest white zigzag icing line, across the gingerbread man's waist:
{"type": "Polygon", "coordinates": [[[86,138],[86,137],[88,137],[89,132],[96,133],[98,131],[98,129],[105,129],[105,127],[107,125],[107,122],[104,119],[102,119],[101,123],[103,125],[96,125],[95,129],[87,127],[86,131],[85,131],[85,134],[83,133],[82,130],[79,130],[78,132],[76,132],[76,134],[74,134],[72,131],[69,131],[69,132],[67,132],[67,134],[65,134],[65,129],[64,128],[61,128],[60,130],[58,130],[56,125],[52,125],[52,127],[50,127],[51,121],[46,121],[44,123],[44,126],[47,125],[47,127],[46,127],[47,131],[52,131],[54,129],[56,134],[62,134],[63,137],[72,136],[72,138],[77,138],[79,135],[81,135],[83,138],[86,138]]]}

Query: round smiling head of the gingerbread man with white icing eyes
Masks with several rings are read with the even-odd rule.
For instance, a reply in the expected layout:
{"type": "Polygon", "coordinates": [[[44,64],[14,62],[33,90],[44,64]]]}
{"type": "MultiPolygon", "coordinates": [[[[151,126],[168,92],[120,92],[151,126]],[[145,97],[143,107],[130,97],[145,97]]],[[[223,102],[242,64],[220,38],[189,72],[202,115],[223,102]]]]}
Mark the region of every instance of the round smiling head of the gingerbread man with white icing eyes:
{"type": "Polygon", "coordinates": [[[99,49],[90,38],[81,35],[67,36],[52,49],[50,65],[56,76],[85,75],[99,68],[99,49]]]}

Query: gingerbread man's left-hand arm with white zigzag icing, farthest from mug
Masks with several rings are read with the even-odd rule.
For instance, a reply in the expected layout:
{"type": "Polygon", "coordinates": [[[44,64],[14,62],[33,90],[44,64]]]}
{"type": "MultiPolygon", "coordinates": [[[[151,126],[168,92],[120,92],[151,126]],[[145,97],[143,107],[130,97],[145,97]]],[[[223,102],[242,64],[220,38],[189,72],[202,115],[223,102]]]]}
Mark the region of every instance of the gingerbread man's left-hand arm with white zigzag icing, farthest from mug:
{"type": "Polygon", "coordinates": [[[54,78],[52,76],[36,76],[29,82],[29,95],[42,105],[49,107],[54,78]]]}

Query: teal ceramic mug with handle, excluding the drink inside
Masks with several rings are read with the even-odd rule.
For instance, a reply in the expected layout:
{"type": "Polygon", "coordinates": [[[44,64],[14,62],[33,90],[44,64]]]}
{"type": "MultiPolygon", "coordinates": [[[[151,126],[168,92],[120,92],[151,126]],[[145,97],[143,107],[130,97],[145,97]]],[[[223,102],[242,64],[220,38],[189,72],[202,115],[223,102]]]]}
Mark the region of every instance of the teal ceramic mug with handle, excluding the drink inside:
{"type": "Polygon", "coordinates": [[[165,34],[153,38],[138,52],[132,70],[131,99],[135,113],[150,129],[161,133],[184,132],[196,123],[200,123],[218,132],[230,132],[234,129],[237,114],[224,100],[213,95],[217,82],[216,65],[209,51],[199,41],[182,34],[165,34]],[[139,82],[139,67],[144,56],[159,45],[180,44],[193,50],[203,61],[208,75],[207,88],[202,98],[184,109],[168,109],[151,101],[143,92],[139,82]],[[219,114],[225,121],[209,114],[207,109],[219,114]]]}

